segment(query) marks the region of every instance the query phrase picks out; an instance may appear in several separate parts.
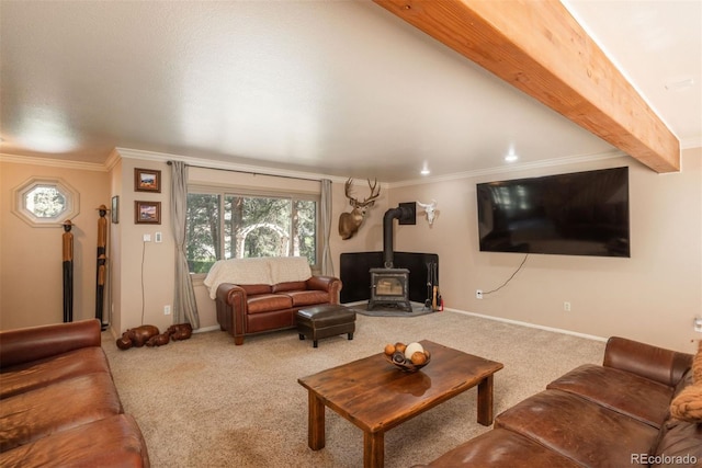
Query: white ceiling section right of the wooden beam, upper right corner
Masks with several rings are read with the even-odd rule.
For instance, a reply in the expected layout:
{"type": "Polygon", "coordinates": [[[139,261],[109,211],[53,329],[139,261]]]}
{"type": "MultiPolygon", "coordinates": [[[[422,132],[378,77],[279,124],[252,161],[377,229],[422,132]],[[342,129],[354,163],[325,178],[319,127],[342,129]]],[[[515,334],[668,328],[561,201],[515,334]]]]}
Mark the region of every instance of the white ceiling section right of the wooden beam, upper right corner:
{"type": "Polygon", "coordinates": [[[564,4],[683,146],[701,146],[702,1],[567,0],[564,4]],[[678,88],[689,80],[690,87],[678,88]]]}

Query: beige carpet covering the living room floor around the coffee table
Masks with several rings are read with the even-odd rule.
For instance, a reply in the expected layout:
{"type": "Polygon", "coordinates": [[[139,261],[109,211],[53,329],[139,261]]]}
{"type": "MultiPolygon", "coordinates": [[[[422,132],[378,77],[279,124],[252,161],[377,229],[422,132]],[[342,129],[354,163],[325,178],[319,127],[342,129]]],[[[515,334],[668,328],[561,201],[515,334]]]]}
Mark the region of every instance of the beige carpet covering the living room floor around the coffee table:
{"type": "MultiPolygon", "coordinates": [[[[327,444],[307,447],[307,392],[297,378],[364,357],[389,342],[431,340],[499,361],[495,413],[544,389],[604,343],[456,312],[415,318],[358,315],[352,341],[318,349],[294,330],[247,338],[214,331],[166,346],[118,350],[103,334],[125,412],[138,421],[154,467],[362,467],[363,433],[327,410],[327,444]]],[[[431,365],[431,364],[429,364],[431,365]]],[[[476,423],[476,389],[385,435],[385,466],[428,463],[488,430],[476,423]]]]}

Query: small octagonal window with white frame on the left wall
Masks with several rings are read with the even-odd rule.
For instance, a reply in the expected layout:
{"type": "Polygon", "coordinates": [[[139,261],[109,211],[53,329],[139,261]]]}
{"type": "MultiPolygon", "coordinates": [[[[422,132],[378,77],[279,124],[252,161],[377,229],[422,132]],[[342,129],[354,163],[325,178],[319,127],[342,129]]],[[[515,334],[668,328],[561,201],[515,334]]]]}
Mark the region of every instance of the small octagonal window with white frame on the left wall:
{"type": "Polygon", "coordinates": [[[60,179],[30,179],[14,190],[13,213],[34,227],[55,227],[78,214],[78,192],[60,179]]]}

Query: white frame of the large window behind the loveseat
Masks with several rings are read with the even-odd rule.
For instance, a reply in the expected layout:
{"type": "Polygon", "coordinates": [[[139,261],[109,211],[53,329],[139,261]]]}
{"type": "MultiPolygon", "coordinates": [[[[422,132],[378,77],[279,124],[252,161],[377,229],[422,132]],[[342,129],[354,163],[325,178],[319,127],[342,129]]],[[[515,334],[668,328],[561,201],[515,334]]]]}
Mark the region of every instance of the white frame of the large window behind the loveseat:
{"type": "MultiPolygon", "coordinates": [[[[219,219],[218,225],[220,229],[219,236],[219,251],[225,252],[225,236],[224,236],[224,224],[225,224],[225,197],[226,196],[241,196],[241,197],[263,197],[263,198],[282,198],[290,199],[292,203],[292,213],[291,213],[291,221],[292,215],[295,210],[296,201],[310,201],[315,202],[317,205],[316,216],[315,216],[315,259],[316,262],[314,265],[310,264],[310,270],[318,270],[319,262],[321,261],[321,254],[324,252],[322,243],[325,240],[321,237],[320,224],[321,224],[321,193],[312,193],[312,192],[298,192],[298,191],[276,191],[276,190],[267,190],[267,189],[248,189],[241,187],[237,185],[219,185],[219,184],[203,184],[203,183],[194,183],[188,184],[188,195],[190,194],[200,194],[200,195],[217,195],[219,197],[219,219]]],[[[224,260],[224,259],[216,259],[224,260]]],[[[193,281],[204,279],[207,276],[207,273],[192,273],[189,272],[190,276],[193,281]]]]}

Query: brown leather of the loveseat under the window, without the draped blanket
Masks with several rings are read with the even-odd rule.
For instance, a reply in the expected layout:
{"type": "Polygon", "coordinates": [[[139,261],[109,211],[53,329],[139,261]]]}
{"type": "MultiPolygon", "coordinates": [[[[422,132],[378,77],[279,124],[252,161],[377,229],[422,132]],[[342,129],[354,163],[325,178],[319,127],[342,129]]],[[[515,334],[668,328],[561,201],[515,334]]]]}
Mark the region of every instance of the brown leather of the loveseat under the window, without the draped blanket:
{"type": "Polygon", "coordinates": [[[293,328],[299,309],[339,304],[340,290],[341,281],[332,276],[274,285],[223,283],[217,287],[217,321],[239,345],[247,334],[293,328]]]}

